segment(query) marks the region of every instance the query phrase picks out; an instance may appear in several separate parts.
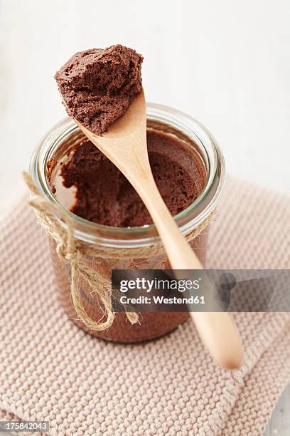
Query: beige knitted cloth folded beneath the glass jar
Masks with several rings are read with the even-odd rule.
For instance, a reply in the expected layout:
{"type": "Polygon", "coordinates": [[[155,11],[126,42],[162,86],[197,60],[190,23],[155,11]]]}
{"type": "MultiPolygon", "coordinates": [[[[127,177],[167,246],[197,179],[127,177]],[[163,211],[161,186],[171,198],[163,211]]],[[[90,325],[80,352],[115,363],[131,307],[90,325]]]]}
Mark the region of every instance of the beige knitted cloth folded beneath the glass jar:
{"type": "MultiPolygon", "coordinates": [[[[0,229],[0,417],[50,435],[262,435],[290,378],[289,313],[237,313],[245,365],[205,353],[193,323],[157,341],[91,338],[60,306],[44,232],[19,202],[0,229]]],[[[229,180],[210,268],[289,268],[289,198],[229,180]]],[[[22,433],[23,435],[23,433],[22,433]]]]}

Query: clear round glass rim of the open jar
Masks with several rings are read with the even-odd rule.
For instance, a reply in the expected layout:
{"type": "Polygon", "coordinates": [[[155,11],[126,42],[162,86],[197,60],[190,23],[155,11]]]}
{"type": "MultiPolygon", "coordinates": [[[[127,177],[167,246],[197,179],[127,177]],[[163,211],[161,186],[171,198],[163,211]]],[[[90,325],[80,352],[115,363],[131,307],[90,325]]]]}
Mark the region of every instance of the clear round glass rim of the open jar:
{"type": "MultiPolygon", "coordinates": [[[[179,130],[183,135],[193,139],[208,158],[208,177],[203,191],[192,204],[173,217],[181,232],[188,234],[198,227],[218,204],[225,182],[225,160],[222,150],[220,150],[215,137],[204,125],[180,110],[166,105],[147,103],[147,119],[159,121],[179,130]]],[[[63,137],[68,137],[77,130],[79,128],[73,119],[67,117],[60,120],[38,142],[30,162],[30,174],[38,189],[56,207],[55,210],[59,212],[60,224],[66,227],[61,217],[67,215],[73,221],[77,239],[102,246],[129,248],[149,246],[160,242],[154,224],[139,227],[112,227],[90,222],[70,212],[53,195],[46,177],[46,164],[52,156],[53,150],[56,150],[60,142],[63,141],[63,137]]]]}

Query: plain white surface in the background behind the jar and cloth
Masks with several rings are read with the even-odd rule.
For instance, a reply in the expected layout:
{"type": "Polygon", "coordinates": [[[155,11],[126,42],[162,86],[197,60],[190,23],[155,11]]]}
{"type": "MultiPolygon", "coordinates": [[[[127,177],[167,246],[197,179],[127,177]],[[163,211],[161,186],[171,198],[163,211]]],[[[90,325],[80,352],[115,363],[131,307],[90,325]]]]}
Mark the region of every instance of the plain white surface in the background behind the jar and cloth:
{"type": "MultiPolygon", "coordinates": [[[[147,100],[208,126],[228,172],[289,193],[289,22],[289,0],[2,0],[0,212],[65,116],[55,71],[75,51],[113,43],[144,55],[147,100]]],[[[289,435],[289,394],[267,435],[289,435]]]]}

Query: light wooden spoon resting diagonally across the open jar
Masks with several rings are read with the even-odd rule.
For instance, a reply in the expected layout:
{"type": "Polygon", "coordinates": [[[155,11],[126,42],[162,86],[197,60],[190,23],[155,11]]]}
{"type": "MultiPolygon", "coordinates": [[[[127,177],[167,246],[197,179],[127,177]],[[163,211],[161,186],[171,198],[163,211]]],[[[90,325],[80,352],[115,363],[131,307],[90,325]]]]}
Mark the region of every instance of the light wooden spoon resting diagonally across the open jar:
{"type": "MultiPolygon", "coordinates": [[[[143,90],[127,112],[103,136],[94,135],[75,120],[88,139],[129,180],[146,205],[173,269],[203,269],[171,217],[156,187],[146,143],[146,101],[143,90]]],[[[240,368],[242,347],[230,316],[222,312],[190,312],[200,338],[223,368],[240,368]]]]}

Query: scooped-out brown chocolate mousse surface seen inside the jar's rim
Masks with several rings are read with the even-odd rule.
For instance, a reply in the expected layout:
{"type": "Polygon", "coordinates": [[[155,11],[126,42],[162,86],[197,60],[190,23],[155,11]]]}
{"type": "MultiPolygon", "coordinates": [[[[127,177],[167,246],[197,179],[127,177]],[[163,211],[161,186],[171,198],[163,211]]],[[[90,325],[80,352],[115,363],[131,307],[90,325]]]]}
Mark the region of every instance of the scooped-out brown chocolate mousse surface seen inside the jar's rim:
{"type": "MultiPolygon", "coordinates": [[[[186,209],[205,186],[200,157],[183,141],[160,130],[147,130],[151,169],[161,196],[174,216],[186,209]]],[[[135,227],[152,220],[126,177],[100,150],[85,140],[61,169],[63,185],[76,188],[71,211],[98,224],[135,227]]]]}

